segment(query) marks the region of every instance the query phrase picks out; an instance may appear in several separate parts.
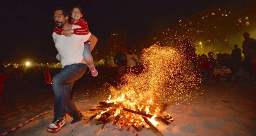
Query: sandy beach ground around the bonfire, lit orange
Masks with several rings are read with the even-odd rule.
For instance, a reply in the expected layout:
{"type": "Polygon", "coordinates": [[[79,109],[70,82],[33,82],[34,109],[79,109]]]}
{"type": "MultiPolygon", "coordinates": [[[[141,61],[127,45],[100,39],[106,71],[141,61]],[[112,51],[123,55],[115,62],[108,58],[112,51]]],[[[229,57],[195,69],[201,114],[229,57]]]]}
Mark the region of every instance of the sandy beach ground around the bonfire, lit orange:
{"type": "MultiPolygon", "coordinates": [[[[26,89],[31,90],[33,86],[26,89]]],[[[170,125],[160,124],[157,128],[165,136],[226,136],[226,135],[256,135],[256,84],[251,82],[220,82],[208,83],[201,86],[203,94],[195,99],[168,107],[166,112],[174,117],[170,125]]],[[[25,89],[25,88],[24,88],[25,89]]],[[[103,97],[97,97],[100,89],[77,85],[74,88],[73,101],[77,108],[86,117],[88,109],[98,104],[103,97]],[[85,89],[86,88],[86,89],[85,89]]],[[[10,92],[9,94],[12,94],[10,92]]],[[[70,124],[72,118],[67,114],[67,124],[57,133],[46,131],[53,120],[54,95],[50,86],[37,90],[34,94],[25,91],[16,93],[15,97],[5,93],[5,98],[0,99],[0,134],[19,125],[20,123],[49,110],[45,114],[28,124],[7,134],[16,136],[84,136],[94,135],[101,125],[86,124],[74,129],[81,122],[70,124]],[[31,94],[31,96],[29,96],[31,94]],[[8,96],[7,96],[8,95],[8,96]]],[[[154,136],[150,129],[142,131],[126,131],[115,129],[113,124],[107,124],[100,136],[154,136]]]]}

